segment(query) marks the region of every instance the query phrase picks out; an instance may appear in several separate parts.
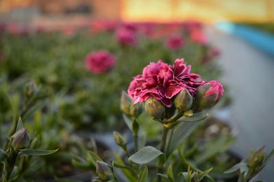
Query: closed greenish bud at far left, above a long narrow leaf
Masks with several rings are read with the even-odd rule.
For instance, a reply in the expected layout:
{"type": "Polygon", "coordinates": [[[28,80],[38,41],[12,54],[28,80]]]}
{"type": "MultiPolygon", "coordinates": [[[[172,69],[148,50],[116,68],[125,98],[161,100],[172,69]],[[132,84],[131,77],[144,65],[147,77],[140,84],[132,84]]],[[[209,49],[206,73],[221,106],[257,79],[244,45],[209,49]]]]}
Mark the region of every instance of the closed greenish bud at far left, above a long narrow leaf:
{"type": "Polygon", "coordinates": [[[29,146],[29,142],[30,142],[30,136],[29,136],[29,133],[27,132],[27,129],[25,128],[16,131],[16,133],[12,135],[12,148],[14,149],[18,150],[18,149],[26,148],[27,146],[29,146]]]}

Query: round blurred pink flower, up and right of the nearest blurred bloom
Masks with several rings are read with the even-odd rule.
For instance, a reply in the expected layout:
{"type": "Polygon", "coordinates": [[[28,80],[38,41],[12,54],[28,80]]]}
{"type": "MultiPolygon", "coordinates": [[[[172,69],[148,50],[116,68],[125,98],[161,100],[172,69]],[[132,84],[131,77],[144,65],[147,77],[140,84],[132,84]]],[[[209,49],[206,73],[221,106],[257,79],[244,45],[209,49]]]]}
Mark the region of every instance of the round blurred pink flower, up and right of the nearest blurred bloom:
{"type": "Polygon", "coordinates": [[[124,28],[116,31],[116,39],[120,42],[120,44],[127,46],[133,46],[137,42],[135,32],[124,28]]]}

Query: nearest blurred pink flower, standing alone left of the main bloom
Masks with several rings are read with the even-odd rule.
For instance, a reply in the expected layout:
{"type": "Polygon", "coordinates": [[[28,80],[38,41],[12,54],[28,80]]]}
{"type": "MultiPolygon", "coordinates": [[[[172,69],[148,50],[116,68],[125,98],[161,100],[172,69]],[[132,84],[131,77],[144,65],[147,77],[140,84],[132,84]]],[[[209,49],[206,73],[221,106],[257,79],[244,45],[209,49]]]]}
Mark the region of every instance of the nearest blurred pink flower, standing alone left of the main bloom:
{"type": "Polygon", "coordinates": [[[114,55],[108,51],[95,51],[86,56],[86,66],[92,73],[105,73],[115,62],[114,55]]]}

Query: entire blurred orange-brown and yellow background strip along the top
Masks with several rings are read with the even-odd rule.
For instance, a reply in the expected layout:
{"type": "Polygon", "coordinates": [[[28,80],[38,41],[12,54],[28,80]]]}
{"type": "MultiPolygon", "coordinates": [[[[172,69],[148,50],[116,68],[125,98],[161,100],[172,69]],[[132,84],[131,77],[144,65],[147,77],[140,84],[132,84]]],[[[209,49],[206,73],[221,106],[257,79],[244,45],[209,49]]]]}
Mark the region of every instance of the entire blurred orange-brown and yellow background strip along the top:
{"type": "Polygon", "coordinates": [[[126,21],[266,22],[274,21],[274,0],[1,0],[0,15],[0,21],[23,19],[25,23],[51,15],[126,21]]]}

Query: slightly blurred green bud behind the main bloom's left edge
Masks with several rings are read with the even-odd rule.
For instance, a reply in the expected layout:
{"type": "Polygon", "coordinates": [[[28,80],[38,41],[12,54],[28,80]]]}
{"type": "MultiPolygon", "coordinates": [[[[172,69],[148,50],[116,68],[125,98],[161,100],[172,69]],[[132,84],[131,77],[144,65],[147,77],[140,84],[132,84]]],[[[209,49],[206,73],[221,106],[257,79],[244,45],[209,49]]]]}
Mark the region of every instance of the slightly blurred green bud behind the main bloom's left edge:
{"type": "Polygon", "coordinates": [[[121,110],[128,116],[138,116],[142,112],[142,107],[140,105],[134,105],[132,98],[125,92],[122,91],[121,96],[121,110]]]}

